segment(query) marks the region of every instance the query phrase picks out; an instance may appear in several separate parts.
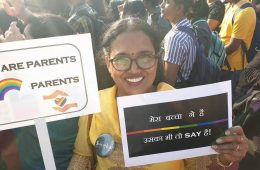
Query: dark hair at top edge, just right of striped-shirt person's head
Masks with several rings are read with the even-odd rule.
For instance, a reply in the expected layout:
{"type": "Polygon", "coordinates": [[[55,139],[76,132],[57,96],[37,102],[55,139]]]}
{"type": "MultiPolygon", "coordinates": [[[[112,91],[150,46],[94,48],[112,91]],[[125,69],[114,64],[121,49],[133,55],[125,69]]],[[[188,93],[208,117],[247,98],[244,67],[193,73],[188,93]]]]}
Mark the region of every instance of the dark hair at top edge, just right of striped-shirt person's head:
{"type": "Polygon", "coordinates": [[[188,14],[189,19],[207,19],[209,15],[209,6],[206,0],[194,0],[192,8],[188,14]]]}

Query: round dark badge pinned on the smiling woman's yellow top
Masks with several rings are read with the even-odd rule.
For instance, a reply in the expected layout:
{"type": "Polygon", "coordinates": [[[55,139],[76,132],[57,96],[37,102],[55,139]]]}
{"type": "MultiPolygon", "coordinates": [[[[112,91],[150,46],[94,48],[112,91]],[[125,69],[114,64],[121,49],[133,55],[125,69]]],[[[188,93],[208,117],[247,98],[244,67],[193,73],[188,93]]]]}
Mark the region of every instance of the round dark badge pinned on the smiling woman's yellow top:
{"type": "Polygon", "coordinates": [[[110,134],[102,134],[95,143],[96,154],[100,157],[107,157],[113,153],[115,146],[115,140],[110,134]]]}

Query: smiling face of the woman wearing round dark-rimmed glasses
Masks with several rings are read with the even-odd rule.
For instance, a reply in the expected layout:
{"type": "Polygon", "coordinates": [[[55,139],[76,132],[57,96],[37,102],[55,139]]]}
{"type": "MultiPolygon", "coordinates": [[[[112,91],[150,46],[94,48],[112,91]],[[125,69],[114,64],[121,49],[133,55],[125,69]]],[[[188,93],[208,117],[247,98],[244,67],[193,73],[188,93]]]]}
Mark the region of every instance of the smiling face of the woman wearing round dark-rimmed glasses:
{"type": "Polygon", "coordinates": [[[113,41],[110,56],[106,57],[106,63],[118,87],[117,96],[142,94],[153,90],[152,84],[156,76],[157,57],[155,59],[151,57],[155,57],[154,46],[150,38],[141,31],[122,33],[113,41]],[[122,58],[125,60],[122,61],[122,58]],[[141,69],[136,64],[137,60],[132,60],[132,65],[126,71],[118,71],[118,68],[114,67],[125,67],[126,60],[130,61],[136,58],[139,58],[139,65],[147,66],[148,64],[149,68],[141,69]],[[112,59],[114,60],[111,61],[112,59]],[[118,64],[118,61],[121,61],[121,65],[118,64]]]}

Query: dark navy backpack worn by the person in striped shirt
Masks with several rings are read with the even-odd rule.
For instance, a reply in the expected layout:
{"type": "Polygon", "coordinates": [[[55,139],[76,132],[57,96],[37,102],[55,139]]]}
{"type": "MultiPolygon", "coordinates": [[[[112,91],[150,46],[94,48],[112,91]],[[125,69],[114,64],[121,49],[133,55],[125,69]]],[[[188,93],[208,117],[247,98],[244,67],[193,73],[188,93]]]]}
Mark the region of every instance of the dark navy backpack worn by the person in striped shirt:
{"type": "Polygon", "coordinates": [[[198,37],[196,36],[194,29],[180,26],[178,27],[178,30],[188,34],[196,44],[196,59],[188,80],[184,80],[178,74],[180,79],[182,79],[182,82],[185,82],[185,86],[198,86],[219,82],[221,79],[221,71],[215,63],[205,56],[204,46],[198,43],[198,37]]]}

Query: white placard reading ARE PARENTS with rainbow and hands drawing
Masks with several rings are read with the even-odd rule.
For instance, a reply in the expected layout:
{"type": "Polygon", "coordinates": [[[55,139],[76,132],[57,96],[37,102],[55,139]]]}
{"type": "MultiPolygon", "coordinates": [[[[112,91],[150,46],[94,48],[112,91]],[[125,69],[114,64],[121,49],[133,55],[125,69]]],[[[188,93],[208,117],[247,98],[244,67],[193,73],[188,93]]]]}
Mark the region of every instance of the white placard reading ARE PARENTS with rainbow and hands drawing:
{"type": "Polygon", "coordinates": [[[0,44],[0,130],[100,111],[90,34],[0,44]]]}

